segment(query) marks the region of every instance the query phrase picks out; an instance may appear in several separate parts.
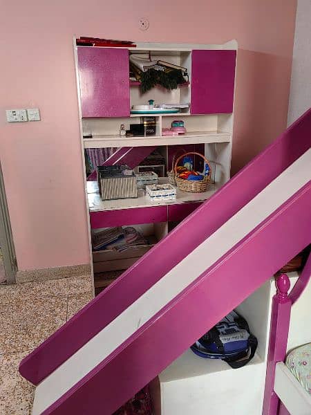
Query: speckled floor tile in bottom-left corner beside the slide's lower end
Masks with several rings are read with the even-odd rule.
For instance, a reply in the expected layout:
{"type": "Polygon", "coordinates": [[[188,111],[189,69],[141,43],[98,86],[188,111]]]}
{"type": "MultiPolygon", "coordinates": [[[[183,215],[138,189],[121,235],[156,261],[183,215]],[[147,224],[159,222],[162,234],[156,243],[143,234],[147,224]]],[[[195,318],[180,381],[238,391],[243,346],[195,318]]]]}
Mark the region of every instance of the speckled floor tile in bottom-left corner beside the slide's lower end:
{"type": "Polygon", "coordinates": [[[19,375],[19,362],[30,351],[0,356],[0,414],[31,414],[35,387],[19,375]]]}

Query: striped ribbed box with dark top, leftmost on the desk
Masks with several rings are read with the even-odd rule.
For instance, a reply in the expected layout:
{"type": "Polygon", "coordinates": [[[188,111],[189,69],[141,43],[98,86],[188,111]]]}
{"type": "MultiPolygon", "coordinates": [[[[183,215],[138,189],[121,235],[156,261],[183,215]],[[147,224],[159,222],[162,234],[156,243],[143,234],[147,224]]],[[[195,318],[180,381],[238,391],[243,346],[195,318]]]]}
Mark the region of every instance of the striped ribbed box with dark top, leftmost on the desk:
{"type": "Polygon", "coordinates": [[[97,181],[103,201],[137,198],[137,178],[126,165],[97,167],[97,181]]]}

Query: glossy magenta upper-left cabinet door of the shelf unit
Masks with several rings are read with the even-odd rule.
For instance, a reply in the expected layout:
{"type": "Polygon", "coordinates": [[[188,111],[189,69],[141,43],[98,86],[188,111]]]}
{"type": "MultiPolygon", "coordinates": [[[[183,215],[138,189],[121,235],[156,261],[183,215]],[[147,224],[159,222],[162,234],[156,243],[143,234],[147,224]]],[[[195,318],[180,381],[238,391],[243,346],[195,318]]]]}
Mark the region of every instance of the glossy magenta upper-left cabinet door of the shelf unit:
{"type": "Polygon", "coordinates": [[[77,48],[82,117],[129,117],[129,50],[77,48]]]}

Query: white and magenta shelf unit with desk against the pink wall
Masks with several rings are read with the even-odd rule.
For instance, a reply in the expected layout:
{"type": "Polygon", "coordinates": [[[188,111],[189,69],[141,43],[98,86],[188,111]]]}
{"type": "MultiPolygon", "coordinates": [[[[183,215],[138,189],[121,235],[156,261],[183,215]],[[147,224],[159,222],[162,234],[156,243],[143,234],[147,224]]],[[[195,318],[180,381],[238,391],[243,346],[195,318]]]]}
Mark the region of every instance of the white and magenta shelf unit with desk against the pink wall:
{"type": "MultiPolygon", "coordinates": [[[[229,180],[236,50],[235,41],[223,45],[137,44],[137,48],[128,49],[75,46],[82,149],[126,147],[131,151],[140,151],[142,147],[158,147],[168,169],[171,168],[173,154],[180,149],[189,151],[200,148],[212,169],[212,181],[207,192],[194,194],[177,190],[176,201],[169,202],[150,201],[144,190],[138,190],[137,199],[102,201],[97,183],[86,181],[91,229],[153,223],[157,228],[155,241],[160,241],[167,234],[169,223],[176,225],[185,219],[229,180]],[[150,53],[155,59],[185,66],[189,82],[180,84],[173,91],[156,87],[142,94],[138,87],[140,82],[129,81],[130,53],[147,56],[150,53]],[[130,113],[133,104],[147,104],[150,99],[155,100],[156,104],[187,102],[189,109],[175,114],[130,113]],[[130,124],[140,122],[140,117],[144,116],[155,117],[156,135],[120,138],[120,124],[129,129],[130,124]],[[162,136],[162,129],[171,127],[173,120],[184,120],[187,133],[162,136]],[[89,135],[92,137],[83,138],[89,135]]],[[[160,178],[160,183],[167,181],[167,178],[160,178]]],[[[151,246],[142,247],[140,255],[151,246]]],[[[92,252],[91,243],[90,250],[92,252]]],[[[127,268],[138,259],[130,250],[128,256],[122,252],[122,258],[119,258],[120,254],[108,250],[92,254],[95,271],[120,269],[117,261],[127,268]]]]}

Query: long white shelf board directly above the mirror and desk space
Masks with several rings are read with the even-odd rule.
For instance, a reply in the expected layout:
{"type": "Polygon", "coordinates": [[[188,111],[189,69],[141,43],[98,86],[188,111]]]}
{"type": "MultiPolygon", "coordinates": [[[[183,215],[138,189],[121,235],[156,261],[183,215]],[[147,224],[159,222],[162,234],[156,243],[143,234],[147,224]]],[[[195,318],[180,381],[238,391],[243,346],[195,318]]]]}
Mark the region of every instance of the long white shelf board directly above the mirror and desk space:
{"type": "Polygon", "coordinates": [[[84,138],[85,149],[102,147],[146,147],[159,145],[186,145],[212,142],[230,142],[232,135],[219,131],[188,131],[181,136],[120,137],[113,135],[84,138]]]}

